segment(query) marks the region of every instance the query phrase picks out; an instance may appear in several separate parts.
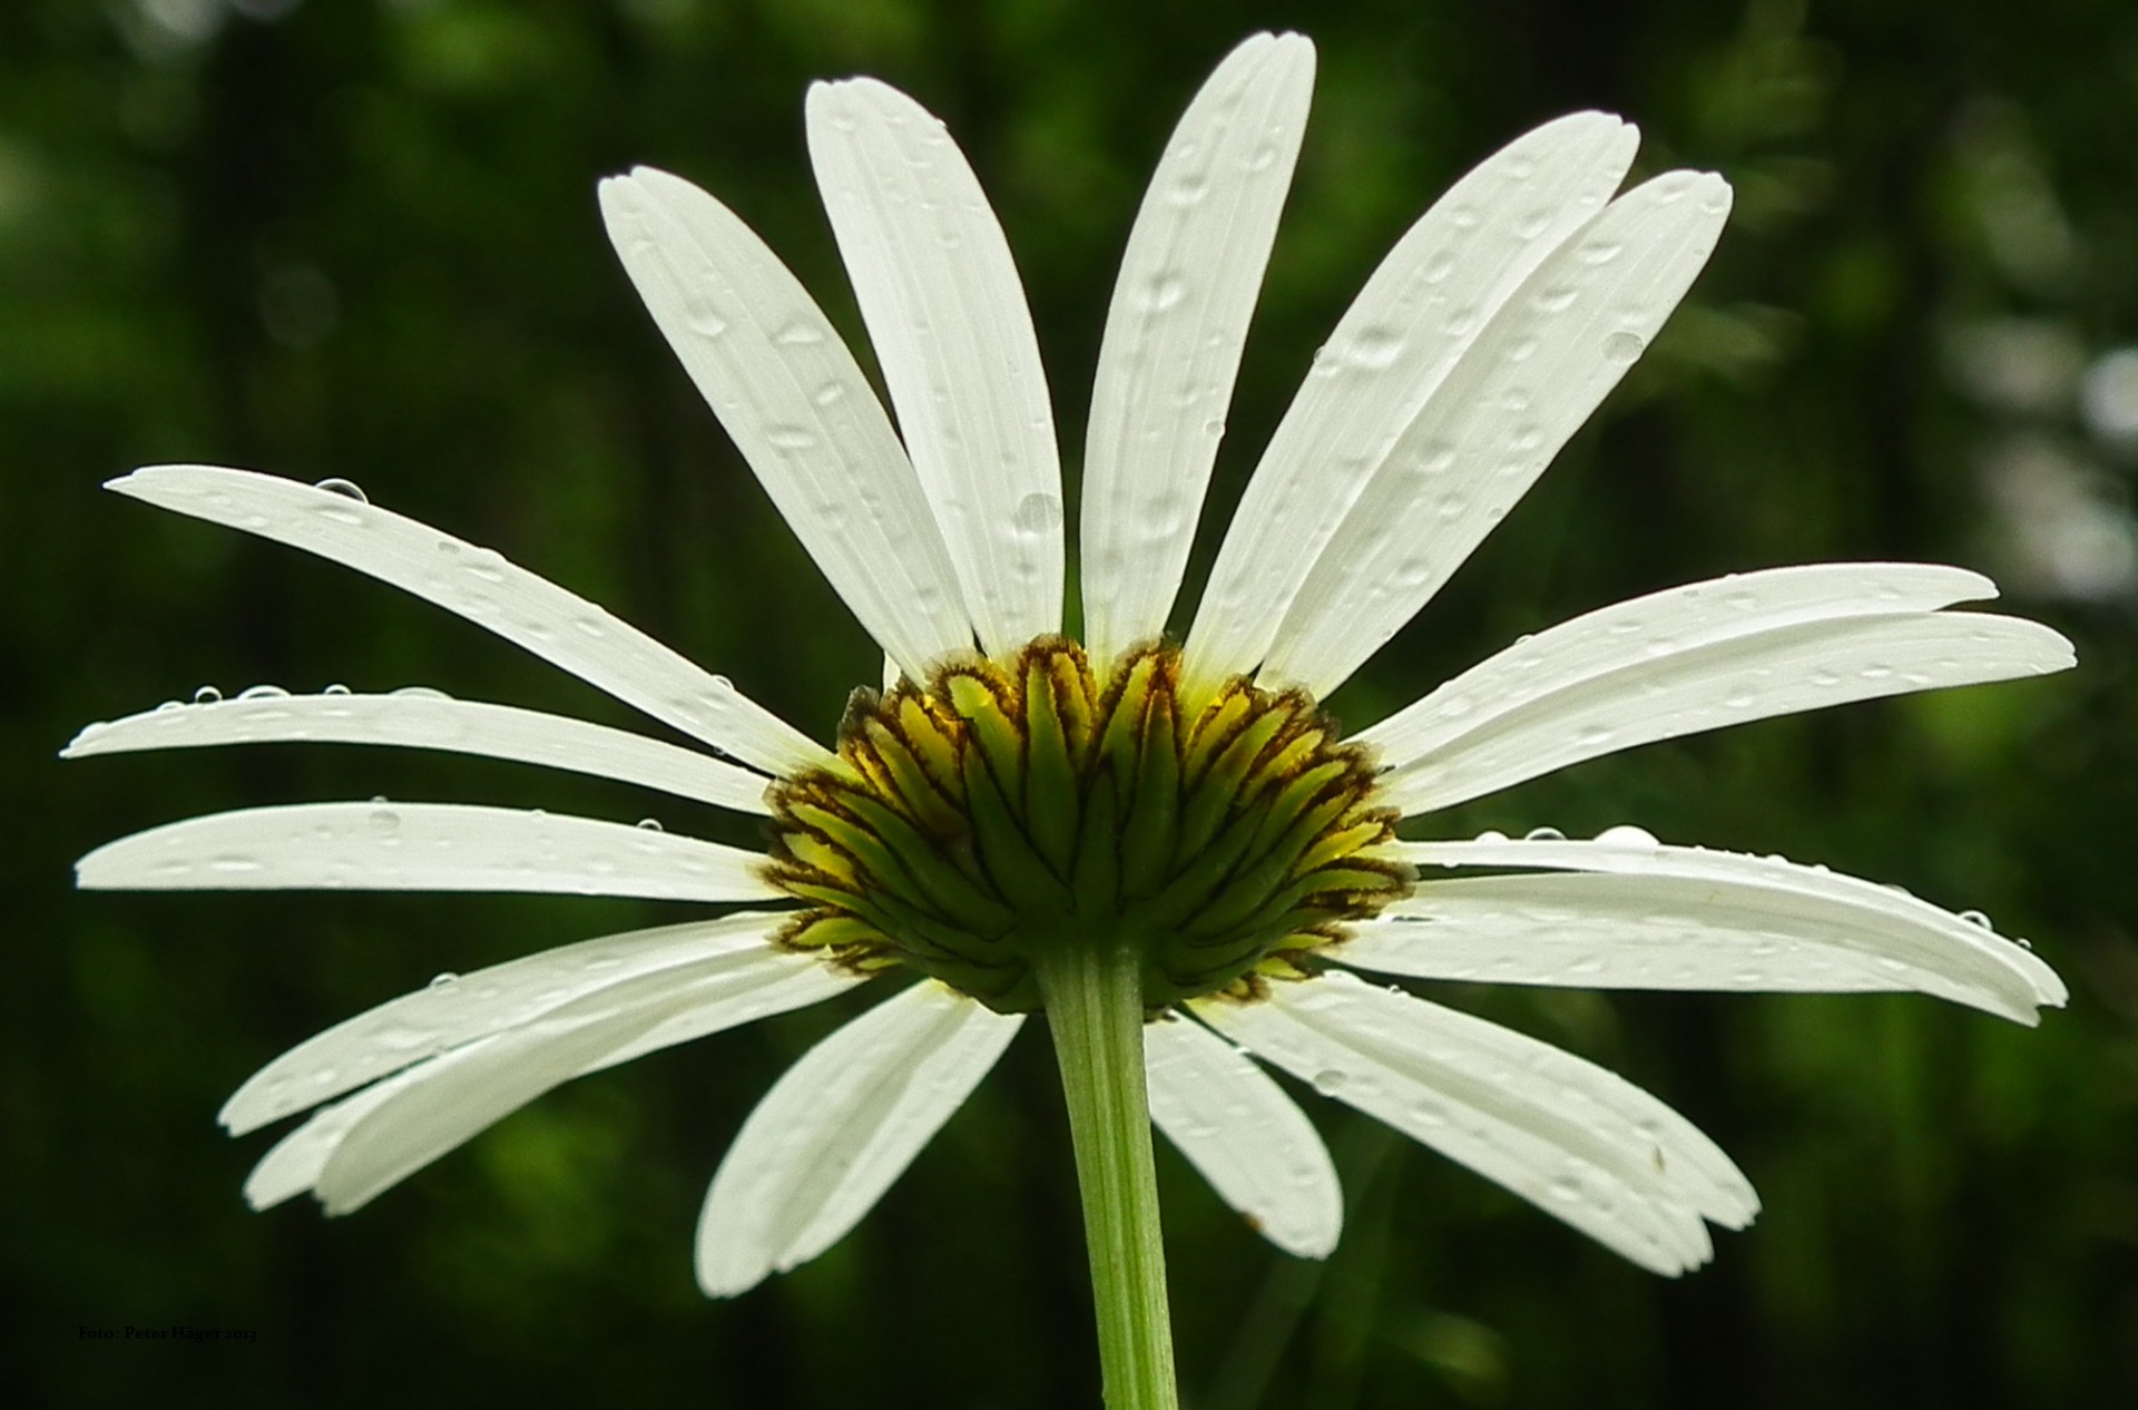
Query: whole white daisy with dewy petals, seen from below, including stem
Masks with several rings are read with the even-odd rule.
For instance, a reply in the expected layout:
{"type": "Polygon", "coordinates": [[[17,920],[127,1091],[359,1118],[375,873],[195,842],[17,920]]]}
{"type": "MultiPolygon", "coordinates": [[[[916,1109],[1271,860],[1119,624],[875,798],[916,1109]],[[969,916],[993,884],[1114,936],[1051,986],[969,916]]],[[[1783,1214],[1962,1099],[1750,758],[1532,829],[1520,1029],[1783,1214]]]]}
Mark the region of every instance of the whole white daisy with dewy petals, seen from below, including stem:
{"type": "MultiPolygon", "coordinates": [[[[1336,1173],[1268,1068],[1657,1273],[1704,1262],[1708,1224],[1753,1217],[1730,1158],[1657,1098],[1360,974],[1918,991],[2018,1023],[2063,1003],[2048,965],[1980,918],[1817,867],[1636,828],[1394,830],[1651,740],[2072,665],[2046,627],[1950,612],[1995,595],[1971,571],[1839,563],[1698,582],[1524,638],[1349,740],[1319,710],[1520,499],[1715,246],[1725,182],[1668,171],[1618,190],[1636,131],[1616,118],[1520,137],[1403,235],[1315,355],[1193,625],[1165,635],[1311,81],[1304,39],[1240,45],[1144,197],[1082,460],[1082,642],[1063,633],[1065,501],[1031,315],[939,120],[872,79],[808,94],[810,158],[889,411],[731,210],[663,171],[603,182],[609,235],[661,332],[883,646],[885,687],[853,695],[832,747],[353,486],[199,464],[111,484],[430,599],[697,747],[436,691],[329,689],[169,704],[90,725],[71,757],[453,749],[759,813],[772,839],[753,854],[374,800],[195,817],[86,856],[88,888],[750,907],[466,974],[299,1044],[222,1110],[231,1132],[312,1113],[252,1173],[254,1205],[310,1192],[329,1213],[357,1209],[573,1076],[898,971],[909,982],[742,1125],[706,1198],[699,1282],[735,1294],[840,1239],[1045,1012],[1095,1275],[1116,1288],[1101,1286],[1101,1337],[1131,1337],[1105,1331],[1110,1297],[1142,1299],[1129,1322],[1163,1329],[1148,1123],[1272,1243],[1334,1247],[1336,1173]]],[[[1169,1352],[1107,1344],[1110,1386],[1135,1354],[1169,1352]]]]}

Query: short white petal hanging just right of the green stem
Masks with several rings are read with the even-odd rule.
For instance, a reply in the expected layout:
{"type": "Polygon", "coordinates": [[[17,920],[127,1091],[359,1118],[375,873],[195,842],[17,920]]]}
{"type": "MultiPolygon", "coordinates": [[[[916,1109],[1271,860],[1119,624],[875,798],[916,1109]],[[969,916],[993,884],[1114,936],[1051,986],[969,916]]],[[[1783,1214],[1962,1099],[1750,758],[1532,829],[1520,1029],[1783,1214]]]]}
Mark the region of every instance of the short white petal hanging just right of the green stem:
{"type": "Polygon", "coordinates": [[[1328,1258],[1343,1185],[1313,1121],[1240,1048],[1189,1018],[1144,1025],[1150,1119],[1276,1247],[1328,1258]]]}

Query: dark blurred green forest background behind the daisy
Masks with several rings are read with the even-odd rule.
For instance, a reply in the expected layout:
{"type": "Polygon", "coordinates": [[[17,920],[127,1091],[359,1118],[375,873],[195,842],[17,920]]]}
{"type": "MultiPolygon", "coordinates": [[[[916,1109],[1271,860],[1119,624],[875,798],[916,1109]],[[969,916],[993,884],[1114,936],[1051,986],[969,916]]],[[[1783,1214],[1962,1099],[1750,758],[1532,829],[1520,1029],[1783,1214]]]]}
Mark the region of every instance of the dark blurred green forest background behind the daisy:
{"type": "Polygon", "coordinates": [[[706,1179],[862,1001],[567,1087],[348,1220],[254,1215],[237,1190],[269,1140],[212,1117],[282,1046],[436,971],[684,911],[68,890],[100,841],[263,802],[748,826],[455,757],[53,753],[201,683],[421,683],[635,723],[378,584],[96,490],[158,460],[355,479],[825,736],[877,657],[637,306],[594,180],[641,160],[697,180],[857,329],[802,94],[898,83],[996,201],[1075,447],[1144,175],[1266,26],[1308,30],[1321,77],[1204,563],[1315,344],[1469,163],[1593,105],[1644,124],[1642,171],[1713,167],[1740,193],[1655,353],[1338,715],[1631,593],[1849,556],[1990,571],[2082,661],[1648,747],[1411,830],[1638,822],[1830,862],[1993,914],[2074,997],[2025,1031],[1911,997],[1460,991],[1678,1104],[1766,1213],[1661,1282],[1311,1102],[1349,1192],[1313,1267],[1161,1151],[1193,1406],[2138,1404],[2138,9],[11,0],[0,1384],[34,1393],[15,1404],[1097,1404],[1039,1031],[857,1235],[706,1303],[706,1179]],[[79,1333],[171,1322],[259,1339],[79,1333]]]}

